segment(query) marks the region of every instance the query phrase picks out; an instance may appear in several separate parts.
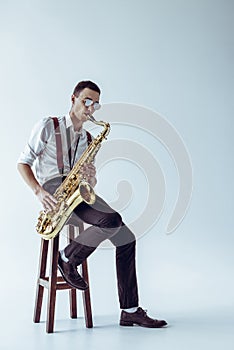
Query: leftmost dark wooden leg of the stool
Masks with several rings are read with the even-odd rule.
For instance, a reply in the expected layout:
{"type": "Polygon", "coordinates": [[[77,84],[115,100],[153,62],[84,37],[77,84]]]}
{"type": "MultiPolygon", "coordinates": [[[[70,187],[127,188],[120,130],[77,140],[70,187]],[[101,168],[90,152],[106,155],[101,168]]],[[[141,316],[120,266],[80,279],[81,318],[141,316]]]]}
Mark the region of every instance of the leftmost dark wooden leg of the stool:
{"type": "Polygon", "coordinates": [[[46,274],[46,262],[47,262],[47,254],[48,254],[48,241],[41,239],[41,250],[39,257],[39,272],[38,272],[38,280],[37,280],[37,290],[36,290],[36,300],[34,307],[34,316],[33,322],[39,323],[41,317],[41,307],[43,300],[43,292],[44,287],[39,284],[39,279],[44,278],[46,274]]]}

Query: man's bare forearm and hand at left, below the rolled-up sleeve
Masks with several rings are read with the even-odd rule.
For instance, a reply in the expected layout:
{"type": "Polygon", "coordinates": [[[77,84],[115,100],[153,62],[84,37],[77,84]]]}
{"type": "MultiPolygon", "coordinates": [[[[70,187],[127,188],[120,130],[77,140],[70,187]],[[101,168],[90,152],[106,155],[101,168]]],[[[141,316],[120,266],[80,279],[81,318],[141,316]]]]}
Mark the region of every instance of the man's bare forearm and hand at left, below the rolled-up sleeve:
{"type": "Polygon", "coordinates": [[[30,165],[18,163],[17,168],[26,184],[33,190],[38,200],[42,203],[43,208],[46,210],[54,209],[56,199],[39,184],[30,165]]]}

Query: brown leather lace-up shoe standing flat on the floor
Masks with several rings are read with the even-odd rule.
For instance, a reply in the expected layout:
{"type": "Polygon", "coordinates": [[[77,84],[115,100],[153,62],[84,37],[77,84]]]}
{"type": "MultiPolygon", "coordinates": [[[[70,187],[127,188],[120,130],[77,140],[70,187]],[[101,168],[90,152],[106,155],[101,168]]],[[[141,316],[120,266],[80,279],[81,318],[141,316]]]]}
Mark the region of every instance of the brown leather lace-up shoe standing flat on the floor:
{"type": "Polygon", "coordinates": [[[119,324],[120,326],[133,326],[136,324],[141,327],[161,328],[166,326],[167,322],[150,318],[145,310],[138,307],[136,312],[126,312],[122,310],[119,324]]]}

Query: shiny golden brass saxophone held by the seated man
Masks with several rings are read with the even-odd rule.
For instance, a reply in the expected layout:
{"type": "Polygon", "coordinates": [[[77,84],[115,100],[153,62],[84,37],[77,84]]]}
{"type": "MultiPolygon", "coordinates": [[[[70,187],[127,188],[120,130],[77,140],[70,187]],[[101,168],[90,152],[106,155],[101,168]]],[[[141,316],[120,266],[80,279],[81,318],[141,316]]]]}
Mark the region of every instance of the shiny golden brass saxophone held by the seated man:
{"type": "Polygon", "coordinates": [[[100,146],[110,132],[110,124],[96,121],[92,115],[88,119],[104,127],[104,130],[92,140],[80,159],[74,165],[62,184],[56,189],[53,196],[57,200],[53,210],[43,210],[39,213],[36,230],[46,240],[54,238],[66,224],[73,210],[82,202],[93,204],[96,195],[90,184],[80,174],[81,166],[91,163],[100,146]]]}

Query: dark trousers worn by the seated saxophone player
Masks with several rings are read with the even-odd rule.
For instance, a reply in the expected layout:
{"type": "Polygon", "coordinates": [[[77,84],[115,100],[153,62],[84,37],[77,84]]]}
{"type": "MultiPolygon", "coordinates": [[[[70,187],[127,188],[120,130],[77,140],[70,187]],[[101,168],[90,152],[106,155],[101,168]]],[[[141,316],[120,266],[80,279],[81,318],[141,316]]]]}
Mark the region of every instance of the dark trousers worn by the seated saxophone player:
{"type": "Polygon", "coordinates": [[[77,218],[92,226],[83,231],[65,249],[69,262],[78,266],[106,239],[116,247],[116,270],[120,308],[138,306],[138,287],[136,278],[136,240],[134,234],[122,222],[102,198],[88,205],[80,203],[74,210],[70,222],[77,218]]]}

